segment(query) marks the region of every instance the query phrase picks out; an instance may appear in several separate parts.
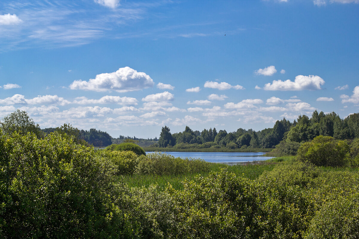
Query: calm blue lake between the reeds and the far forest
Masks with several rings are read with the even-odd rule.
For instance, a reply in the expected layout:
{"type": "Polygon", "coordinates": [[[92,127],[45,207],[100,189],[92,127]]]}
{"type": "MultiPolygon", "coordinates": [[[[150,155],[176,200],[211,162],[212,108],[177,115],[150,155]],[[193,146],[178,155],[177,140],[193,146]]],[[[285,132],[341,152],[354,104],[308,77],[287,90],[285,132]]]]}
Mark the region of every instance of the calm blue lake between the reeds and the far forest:
{"type": "MultiPolygon", "coordinates": [[[[154,152],[146,152],[154,153],[154,152]]],[[[262,161],[274,157],[262,156],[264,152],[162,152],[181,158],[201,158],[211,163],[245,163],[252,161],[262,161]]]]}

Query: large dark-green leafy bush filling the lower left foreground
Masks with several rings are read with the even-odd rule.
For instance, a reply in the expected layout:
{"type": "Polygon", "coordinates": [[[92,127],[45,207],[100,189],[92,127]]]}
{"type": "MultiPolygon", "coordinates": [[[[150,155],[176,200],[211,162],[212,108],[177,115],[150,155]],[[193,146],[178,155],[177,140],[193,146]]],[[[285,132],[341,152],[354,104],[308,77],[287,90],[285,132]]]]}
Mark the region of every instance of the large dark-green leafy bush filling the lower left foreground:
{"type": "Polygon", "coordinates": [[[131,238],[129,194],[93,148],[51,133],[0,131],[1,238],[131,238]]]}

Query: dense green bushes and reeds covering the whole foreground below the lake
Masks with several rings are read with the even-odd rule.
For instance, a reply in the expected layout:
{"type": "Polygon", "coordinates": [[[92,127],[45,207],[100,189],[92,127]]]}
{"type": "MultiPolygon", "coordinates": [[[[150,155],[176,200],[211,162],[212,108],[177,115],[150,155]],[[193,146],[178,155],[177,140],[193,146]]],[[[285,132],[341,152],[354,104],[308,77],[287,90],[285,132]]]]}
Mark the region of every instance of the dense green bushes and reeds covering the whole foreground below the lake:
{"type": "Polygon", "coordinates": [[[350,164],[225,166],[1,132],[0,158],[1,238],[359,238],[350,164]]]}

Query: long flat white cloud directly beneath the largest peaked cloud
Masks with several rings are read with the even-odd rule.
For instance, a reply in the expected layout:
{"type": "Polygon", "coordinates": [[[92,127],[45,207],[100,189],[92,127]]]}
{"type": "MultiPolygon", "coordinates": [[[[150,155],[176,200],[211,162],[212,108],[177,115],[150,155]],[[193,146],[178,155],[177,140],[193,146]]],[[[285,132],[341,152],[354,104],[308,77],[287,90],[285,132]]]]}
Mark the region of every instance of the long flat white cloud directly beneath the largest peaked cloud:
{"type": "Polygon", "coordinates": [[[106,95],[101,97],[100,99],[87,99],[85,96],[76,97],[73,101],[74,104],[109,104],[109,103],[116,103],[119,105],[137,105],[138,100],[136,98],[127,97],[127,96],[111,96],[106,95]]]}

